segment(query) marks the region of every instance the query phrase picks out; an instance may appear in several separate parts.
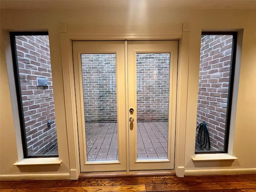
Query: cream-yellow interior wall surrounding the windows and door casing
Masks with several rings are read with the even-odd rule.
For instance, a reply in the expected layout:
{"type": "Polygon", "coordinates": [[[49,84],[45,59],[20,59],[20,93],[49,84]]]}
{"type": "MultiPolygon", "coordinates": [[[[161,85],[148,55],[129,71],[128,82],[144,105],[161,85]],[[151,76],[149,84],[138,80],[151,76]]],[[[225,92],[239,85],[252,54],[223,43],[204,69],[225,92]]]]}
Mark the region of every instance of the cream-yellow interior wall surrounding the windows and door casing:
{"type": "MultiPolygon", "coordinates": [[[[165,25],[190,24],[190,56],[188,77],[188,110],[186,131],[185,170],[256,168],[256,12],[255,10],[167,10],[145,7],[124,9],[84,10],[1,10],[1,174],[68,173],[68,147],[65,123],[62,65],[60,53],[60,23],[68,25],[165,25]],[[240,81],[238,88],[237,114],[235,120],[233,155],[231,162],[193,163],[198,74],[200,60],[200,37],[202,30],[244,29],[240,81]],[[18,160],[16,135],[9,80],[7,74],[4,39],[6,31],[48,30],[56,108],[56,125],[59,156],[63,161],[58,166],[18,168],[12,164],[18,160]]],[[[10,64],[10,62],[8,62],[10,64]]],[[[10,82],[12,86],[12,82],[10,82]]],[[[238,86],[236,84],[235,86],[238,86]]]]}

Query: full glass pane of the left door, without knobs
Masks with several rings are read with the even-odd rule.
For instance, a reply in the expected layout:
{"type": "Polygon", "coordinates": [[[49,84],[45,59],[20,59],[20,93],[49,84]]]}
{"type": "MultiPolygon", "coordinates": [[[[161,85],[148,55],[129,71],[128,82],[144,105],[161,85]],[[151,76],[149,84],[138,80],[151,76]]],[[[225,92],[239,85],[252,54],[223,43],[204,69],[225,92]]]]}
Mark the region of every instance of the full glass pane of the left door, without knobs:
{"type": "Polygon", "coordinates": [[[87,161],[118,160],[116,55],[81,54],[87,161]]]}

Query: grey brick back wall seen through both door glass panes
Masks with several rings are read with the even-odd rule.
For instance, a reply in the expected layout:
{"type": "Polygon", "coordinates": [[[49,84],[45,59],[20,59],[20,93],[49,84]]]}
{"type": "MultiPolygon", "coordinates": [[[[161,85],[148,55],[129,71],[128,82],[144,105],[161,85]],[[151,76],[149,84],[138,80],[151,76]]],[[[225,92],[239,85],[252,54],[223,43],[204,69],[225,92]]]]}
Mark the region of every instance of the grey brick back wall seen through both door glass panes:
{"type": "MultiPolygon", "coordinates": [[[[137,54],[137,119],[167,120],[170,54],[137,54]]],[[[82,54],[86,122],[117,121],[115,54],[82,54]]]]}

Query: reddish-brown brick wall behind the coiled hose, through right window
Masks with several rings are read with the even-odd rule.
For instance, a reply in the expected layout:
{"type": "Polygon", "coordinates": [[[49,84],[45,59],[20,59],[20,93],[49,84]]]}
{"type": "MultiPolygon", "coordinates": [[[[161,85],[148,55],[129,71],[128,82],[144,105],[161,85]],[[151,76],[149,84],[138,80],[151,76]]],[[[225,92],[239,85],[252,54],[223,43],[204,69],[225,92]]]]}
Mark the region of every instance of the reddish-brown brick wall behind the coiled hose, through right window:
{"type": "Polygon", "coordinates": [[[231,35],[202,36],[197,125],[206,122],[211,150],[224,148],[231,51],[231,35]]]}

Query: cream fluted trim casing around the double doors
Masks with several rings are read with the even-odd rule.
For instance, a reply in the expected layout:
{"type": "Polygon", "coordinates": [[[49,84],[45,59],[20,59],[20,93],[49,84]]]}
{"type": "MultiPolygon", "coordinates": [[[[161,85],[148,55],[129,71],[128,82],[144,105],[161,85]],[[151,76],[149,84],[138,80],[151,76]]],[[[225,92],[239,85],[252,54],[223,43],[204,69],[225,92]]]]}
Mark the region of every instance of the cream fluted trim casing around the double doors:
{"type": "Polygon", "coordinates": [[[178,58],[175,171],[178,177],[183,177],[188,95],[189,24],[173,24],[168,26],[67,26],[66,24],[61,24],[59,32],[70,161],[70,179],[76,180],[80,174],[72,40],[180,41],[178,58]]]}

